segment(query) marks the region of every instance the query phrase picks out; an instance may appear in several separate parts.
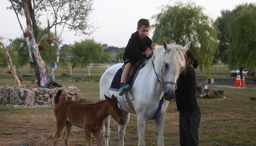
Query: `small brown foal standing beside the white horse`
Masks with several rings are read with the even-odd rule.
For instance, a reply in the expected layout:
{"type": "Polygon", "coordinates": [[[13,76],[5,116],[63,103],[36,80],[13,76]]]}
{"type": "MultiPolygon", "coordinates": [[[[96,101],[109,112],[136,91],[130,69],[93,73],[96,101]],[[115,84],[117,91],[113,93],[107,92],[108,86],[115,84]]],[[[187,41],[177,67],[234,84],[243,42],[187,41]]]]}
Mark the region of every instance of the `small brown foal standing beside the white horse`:
{"type": "Polygon", "coordinates": [[[103,120],[111,115],[120,125],[124,123],[124,116],[118,108],[118,101],[114,95],[111,99],[105,95],[106,100],[96,104],[79,104],[72,100],[65,100],[67,91],[60,89],[54,97],[54,116],[56,119],[56,133],[53,145],[57,146],[61,131],[65,128],[63,135],[65,145],[69,145],[69,135],[72,125],[83,128],[86,146],[91,145],[91,133],[93,133],[97,146],[102,146],[101,128],[103,120]],[[63,92],[63,93],[62,93],[63,92]]]}

